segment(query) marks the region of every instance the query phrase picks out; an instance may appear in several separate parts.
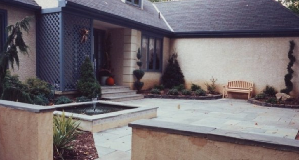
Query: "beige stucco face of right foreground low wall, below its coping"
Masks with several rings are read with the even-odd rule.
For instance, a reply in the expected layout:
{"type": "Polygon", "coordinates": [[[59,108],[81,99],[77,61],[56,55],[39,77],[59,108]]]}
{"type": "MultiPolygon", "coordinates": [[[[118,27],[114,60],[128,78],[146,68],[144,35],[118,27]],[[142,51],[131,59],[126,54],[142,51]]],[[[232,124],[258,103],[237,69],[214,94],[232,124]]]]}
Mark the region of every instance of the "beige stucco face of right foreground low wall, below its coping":
{"type": "Polygon", "coordinates": [[[299,153],[132,129],[132,160],[294,160],[299,153]]]}

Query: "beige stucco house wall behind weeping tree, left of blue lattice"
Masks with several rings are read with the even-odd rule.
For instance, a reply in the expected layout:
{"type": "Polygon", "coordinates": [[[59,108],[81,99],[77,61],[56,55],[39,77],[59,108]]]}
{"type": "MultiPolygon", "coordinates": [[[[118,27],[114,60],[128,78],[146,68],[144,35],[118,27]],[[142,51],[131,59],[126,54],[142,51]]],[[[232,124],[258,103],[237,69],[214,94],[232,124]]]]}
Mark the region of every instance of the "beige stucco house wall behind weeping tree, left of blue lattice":
{"type": "MultiPolygon", "coordinates": [[[[17,21],[22,20],[26,16],[35,16],[33,11],[24,10],[9,5],[0,5],[0,9],[7,10],[8,25],[16,24],[17,21]]],[[[25,44],[29,46],[29,55],[19,55],[20,66],[19,69],[15,65],[14,71],[11,74],[19,75],[20,80],[24,81],[30,77],[36,77],[36,22],[35,19],[30,22],[29,33],[23,32],[25,44]]]]}

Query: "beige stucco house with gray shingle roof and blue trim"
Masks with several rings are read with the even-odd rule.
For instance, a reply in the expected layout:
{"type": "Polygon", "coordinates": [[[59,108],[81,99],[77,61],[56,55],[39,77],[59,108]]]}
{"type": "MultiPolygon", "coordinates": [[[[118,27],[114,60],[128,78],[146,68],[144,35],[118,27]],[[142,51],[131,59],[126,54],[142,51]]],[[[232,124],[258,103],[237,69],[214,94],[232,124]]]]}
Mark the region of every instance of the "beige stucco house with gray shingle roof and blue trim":
{"type": "MultiPolygon", "coordinates": [[[[103,46],[108,35],[115,82],[131,88],[138,48],[146,71],[142,79],[144,89],[160,83],[167,59],[175,50],[187,87],[191,83],[205,86],[213,76],[218,79],[219,92],[228,80],[252,81],[255,93],[267,84],[283,89],[290,40],[297,44],[298,53],[299,17],[274,0],[36,3],[42,7],[37,16],[36,65],[26,64],[36,68],[37,77],[55,84],[62,92],[76,89],[80,65],[86,56],[95,62],[98,73],[105,63],[103,46]],[[81,42],[82,30],[90,32],[86,42],[81,42]]],[[[299,59],[298,54],[295,57],[299,59]]],[[[291,94],[297,95],[298,63],[293,68],[291,94]]],[[[18,72],[28,70],[24,67],[18,72]]],[[[30,73],[35,74],[34,71],[31,69],[30,73]]]]}

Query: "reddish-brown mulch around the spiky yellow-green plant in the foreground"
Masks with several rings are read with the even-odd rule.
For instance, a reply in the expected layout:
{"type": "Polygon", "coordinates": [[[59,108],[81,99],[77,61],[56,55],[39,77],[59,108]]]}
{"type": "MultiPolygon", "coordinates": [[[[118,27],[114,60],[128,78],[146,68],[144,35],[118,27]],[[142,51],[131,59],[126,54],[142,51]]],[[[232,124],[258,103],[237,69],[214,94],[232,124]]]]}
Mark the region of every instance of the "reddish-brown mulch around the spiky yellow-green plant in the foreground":
{"type": "MultiPolygon", "coordinates": [[[[99,158],[91,132],[82,131],[77,139],[71,142],[71,145],[74,145],[74,149],[64,151],[62,155],[64,160],[93,160],[99,158]]],[[[55,149],[54,160],[61,160],[55,149]]]]}

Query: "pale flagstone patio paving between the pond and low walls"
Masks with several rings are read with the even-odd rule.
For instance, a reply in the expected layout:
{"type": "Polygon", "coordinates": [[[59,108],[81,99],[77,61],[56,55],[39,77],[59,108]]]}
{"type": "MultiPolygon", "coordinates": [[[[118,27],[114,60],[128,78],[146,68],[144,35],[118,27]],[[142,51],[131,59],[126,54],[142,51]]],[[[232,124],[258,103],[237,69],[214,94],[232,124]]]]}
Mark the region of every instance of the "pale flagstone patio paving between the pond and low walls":
{"type": "MultiPolygon", "coordinates": [[[[299,109],[256,106],[245,100],[142,99],[122,102],[158,106],[158,121],[216,127],[294,139],[299,129],[299,109]]],[[[94,134],[101,160],[130,160],[131,128],[109,129],[94,134]]]]}

